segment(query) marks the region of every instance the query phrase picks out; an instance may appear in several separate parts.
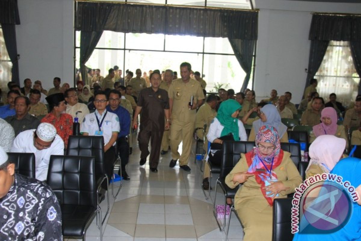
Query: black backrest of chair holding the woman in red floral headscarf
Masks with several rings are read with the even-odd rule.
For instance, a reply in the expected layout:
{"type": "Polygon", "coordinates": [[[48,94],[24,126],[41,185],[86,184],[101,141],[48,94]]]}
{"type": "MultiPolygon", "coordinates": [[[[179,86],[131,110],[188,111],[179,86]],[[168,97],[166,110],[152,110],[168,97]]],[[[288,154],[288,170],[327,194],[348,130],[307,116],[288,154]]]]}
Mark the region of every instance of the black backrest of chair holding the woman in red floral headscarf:
{"type": "Polygon", "coordinates": [[[222,152],[222,164],[219,178],[224,178],[238,163],[240,153],[251,151],[255,147],[254,141],[224,141],[222,152]]]}

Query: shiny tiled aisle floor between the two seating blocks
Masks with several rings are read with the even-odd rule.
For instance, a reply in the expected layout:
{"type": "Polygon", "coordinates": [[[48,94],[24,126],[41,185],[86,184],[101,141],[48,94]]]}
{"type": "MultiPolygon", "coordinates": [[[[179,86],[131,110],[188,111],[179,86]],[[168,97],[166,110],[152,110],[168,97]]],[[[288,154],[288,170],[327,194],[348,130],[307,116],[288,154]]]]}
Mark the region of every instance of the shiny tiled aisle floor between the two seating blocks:
{"type": "MultiPolygon", "coordinates": [[[[184,172],[179,169],[178,163],[169,168],[169,151],[161,156],[158,173],[149,170],[148,161],[139,166],[139,156],[140,151],[134,143],[127,165],[131,179],[123,181],[115,200],[110,198],[111,212],[103,225],[104,241],[225,240],[225,233],[219,231],[213,216],[212,201],[204,198],[200,187],[203,174],[194,163],[193,155],[189,161],[191,172],[184,172]]],[[[116,187],[118,185],[115,184],[116,187]]],[[[211,195],[214,197],[214,192],[211,195]]],[[[222,195],[217,195],[217,203],[221,202],[222,195]]],[[[106,210],[106,200],[101,207],[106,210]]],[[[242,238],[242,227],[232,215],[228,240],[240,241],[242,238]]],[[[100,240],[95,221],[88,228],[86,240],[100,240]]]]}

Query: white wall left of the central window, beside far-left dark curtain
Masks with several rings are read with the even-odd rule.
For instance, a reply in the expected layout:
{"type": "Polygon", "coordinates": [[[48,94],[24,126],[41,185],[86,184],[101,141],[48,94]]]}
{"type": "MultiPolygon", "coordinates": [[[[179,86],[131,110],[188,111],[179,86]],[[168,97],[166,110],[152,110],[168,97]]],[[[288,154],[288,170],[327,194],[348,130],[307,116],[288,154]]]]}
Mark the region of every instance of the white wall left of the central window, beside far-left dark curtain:
{"type": "Polygon", "coordinates": [[[18,0],[20,25],[16,26],[20,84],[40,79],[44,89],[53,78],[73,86],[73,0],[18,0]]]}

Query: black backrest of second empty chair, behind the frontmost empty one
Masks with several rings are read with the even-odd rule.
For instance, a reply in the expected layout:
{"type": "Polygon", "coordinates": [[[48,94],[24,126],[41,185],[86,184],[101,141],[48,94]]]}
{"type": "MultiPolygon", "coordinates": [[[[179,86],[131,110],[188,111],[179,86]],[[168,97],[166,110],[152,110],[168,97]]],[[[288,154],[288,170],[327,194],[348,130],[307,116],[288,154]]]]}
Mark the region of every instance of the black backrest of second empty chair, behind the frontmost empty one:
{"type": "Polygon", "coordinates": [[[96,178],[105,175],[103,136],[70,135],[66,155],[94,156],[96,178]]]}

